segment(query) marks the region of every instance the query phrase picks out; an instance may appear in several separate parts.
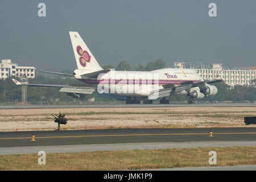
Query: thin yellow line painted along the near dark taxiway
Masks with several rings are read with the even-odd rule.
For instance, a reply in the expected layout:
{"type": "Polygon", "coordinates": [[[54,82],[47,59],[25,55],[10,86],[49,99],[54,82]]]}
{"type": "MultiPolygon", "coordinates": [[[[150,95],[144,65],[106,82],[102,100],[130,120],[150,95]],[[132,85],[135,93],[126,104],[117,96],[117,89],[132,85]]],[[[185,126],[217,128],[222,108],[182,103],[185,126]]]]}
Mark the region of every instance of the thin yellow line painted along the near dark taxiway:
{"type": "MultiPolygon", "coordinates": [[[[235,134],[256,134],[256,133],[213,133],[213,135],[235,135],[235,134]]],[[[35,137],[39,138],[81,138],[81,137],[130,137],[130,136],[168,136],[168,135],[209,135],[209,133],[175,133],[175,134],[123,134],[123,135],[77,135],[77,136],[56,136],[56,137],[35,137]]],[[[0,138],[5,139],[31,139],[31,137],[0,138]]]]}

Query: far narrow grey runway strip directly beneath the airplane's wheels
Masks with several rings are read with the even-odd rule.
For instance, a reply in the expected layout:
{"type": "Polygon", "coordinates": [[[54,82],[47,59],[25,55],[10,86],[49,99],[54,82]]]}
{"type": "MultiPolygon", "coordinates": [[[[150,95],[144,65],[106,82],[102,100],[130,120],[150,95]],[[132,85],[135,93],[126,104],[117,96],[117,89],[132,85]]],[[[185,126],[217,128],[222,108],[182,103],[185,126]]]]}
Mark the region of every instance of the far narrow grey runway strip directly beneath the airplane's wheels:
{"type": "Polygon", "coordinates": [[[93,107],[256,107],[255,103],[242,104],[126,104],[126,105],[23,105],[0,106],[0,109],[49,109],[49,108],[93,108],[93,107]]]}

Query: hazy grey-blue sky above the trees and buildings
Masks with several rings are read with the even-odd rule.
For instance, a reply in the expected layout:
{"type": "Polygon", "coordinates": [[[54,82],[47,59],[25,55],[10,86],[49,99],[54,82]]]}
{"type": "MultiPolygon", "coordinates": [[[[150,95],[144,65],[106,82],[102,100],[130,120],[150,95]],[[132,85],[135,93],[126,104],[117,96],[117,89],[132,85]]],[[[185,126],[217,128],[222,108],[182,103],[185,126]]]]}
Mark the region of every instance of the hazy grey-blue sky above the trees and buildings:
{"type": "Polygon", "coordinates": [[[108,0],[0,2],[0,59],[39,70],[76,69],[68,31],[78,31],[100,65],[162,58],[256,66],[256,1],[108,0]],[[38,4],[46,3],[46,17],[38,4]],[[209,3],[217,17],[209,17],[209,3]]]}

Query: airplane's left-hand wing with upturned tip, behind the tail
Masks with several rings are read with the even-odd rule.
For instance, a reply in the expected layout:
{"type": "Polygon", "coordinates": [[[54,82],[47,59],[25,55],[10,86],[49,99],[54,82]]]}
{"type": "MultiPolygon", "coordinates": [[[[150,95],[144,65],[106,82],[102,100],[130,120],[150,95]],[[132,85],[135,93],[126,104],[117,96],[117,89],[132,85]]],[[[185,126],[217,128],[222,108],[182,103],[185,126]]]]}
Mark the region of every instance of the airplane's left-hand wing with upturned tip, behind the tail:
{"type": "Polygon", "coordinates": [[[15,79],[12,79],[16,85],[20,86],[45,86],[45,87],[57,87],[61,88],[60,92],[67,93],[83,93],[83,94],[92,94],[96,88],[84,86],[84,85],[48,85],[48,84],[24,84],[15,79]]]}

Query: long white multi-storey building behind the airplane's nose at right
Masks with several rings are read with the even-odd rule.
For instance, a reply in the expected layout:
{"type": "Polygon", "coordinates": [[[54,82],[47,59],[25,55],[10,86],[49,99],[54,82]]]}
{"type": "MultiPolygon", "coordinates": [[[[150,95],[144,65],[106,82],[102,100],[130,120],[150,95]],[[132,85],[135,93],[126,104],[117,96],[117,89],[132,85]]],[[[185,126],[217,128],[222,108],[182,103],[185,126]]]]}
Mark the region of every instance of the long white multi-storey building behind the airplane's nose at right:
{"type": "Polygon", "coordinates": [[[225,69],[222,64],[212,64],[210,67],[207,64],[201,63],[174,63],[176,68],[195,69],[204,80],[212,80],[215,78],[222,78],[227,85],[254,85],[253,80],[256,79],[255,67],[242,67],[225,69]]]}

